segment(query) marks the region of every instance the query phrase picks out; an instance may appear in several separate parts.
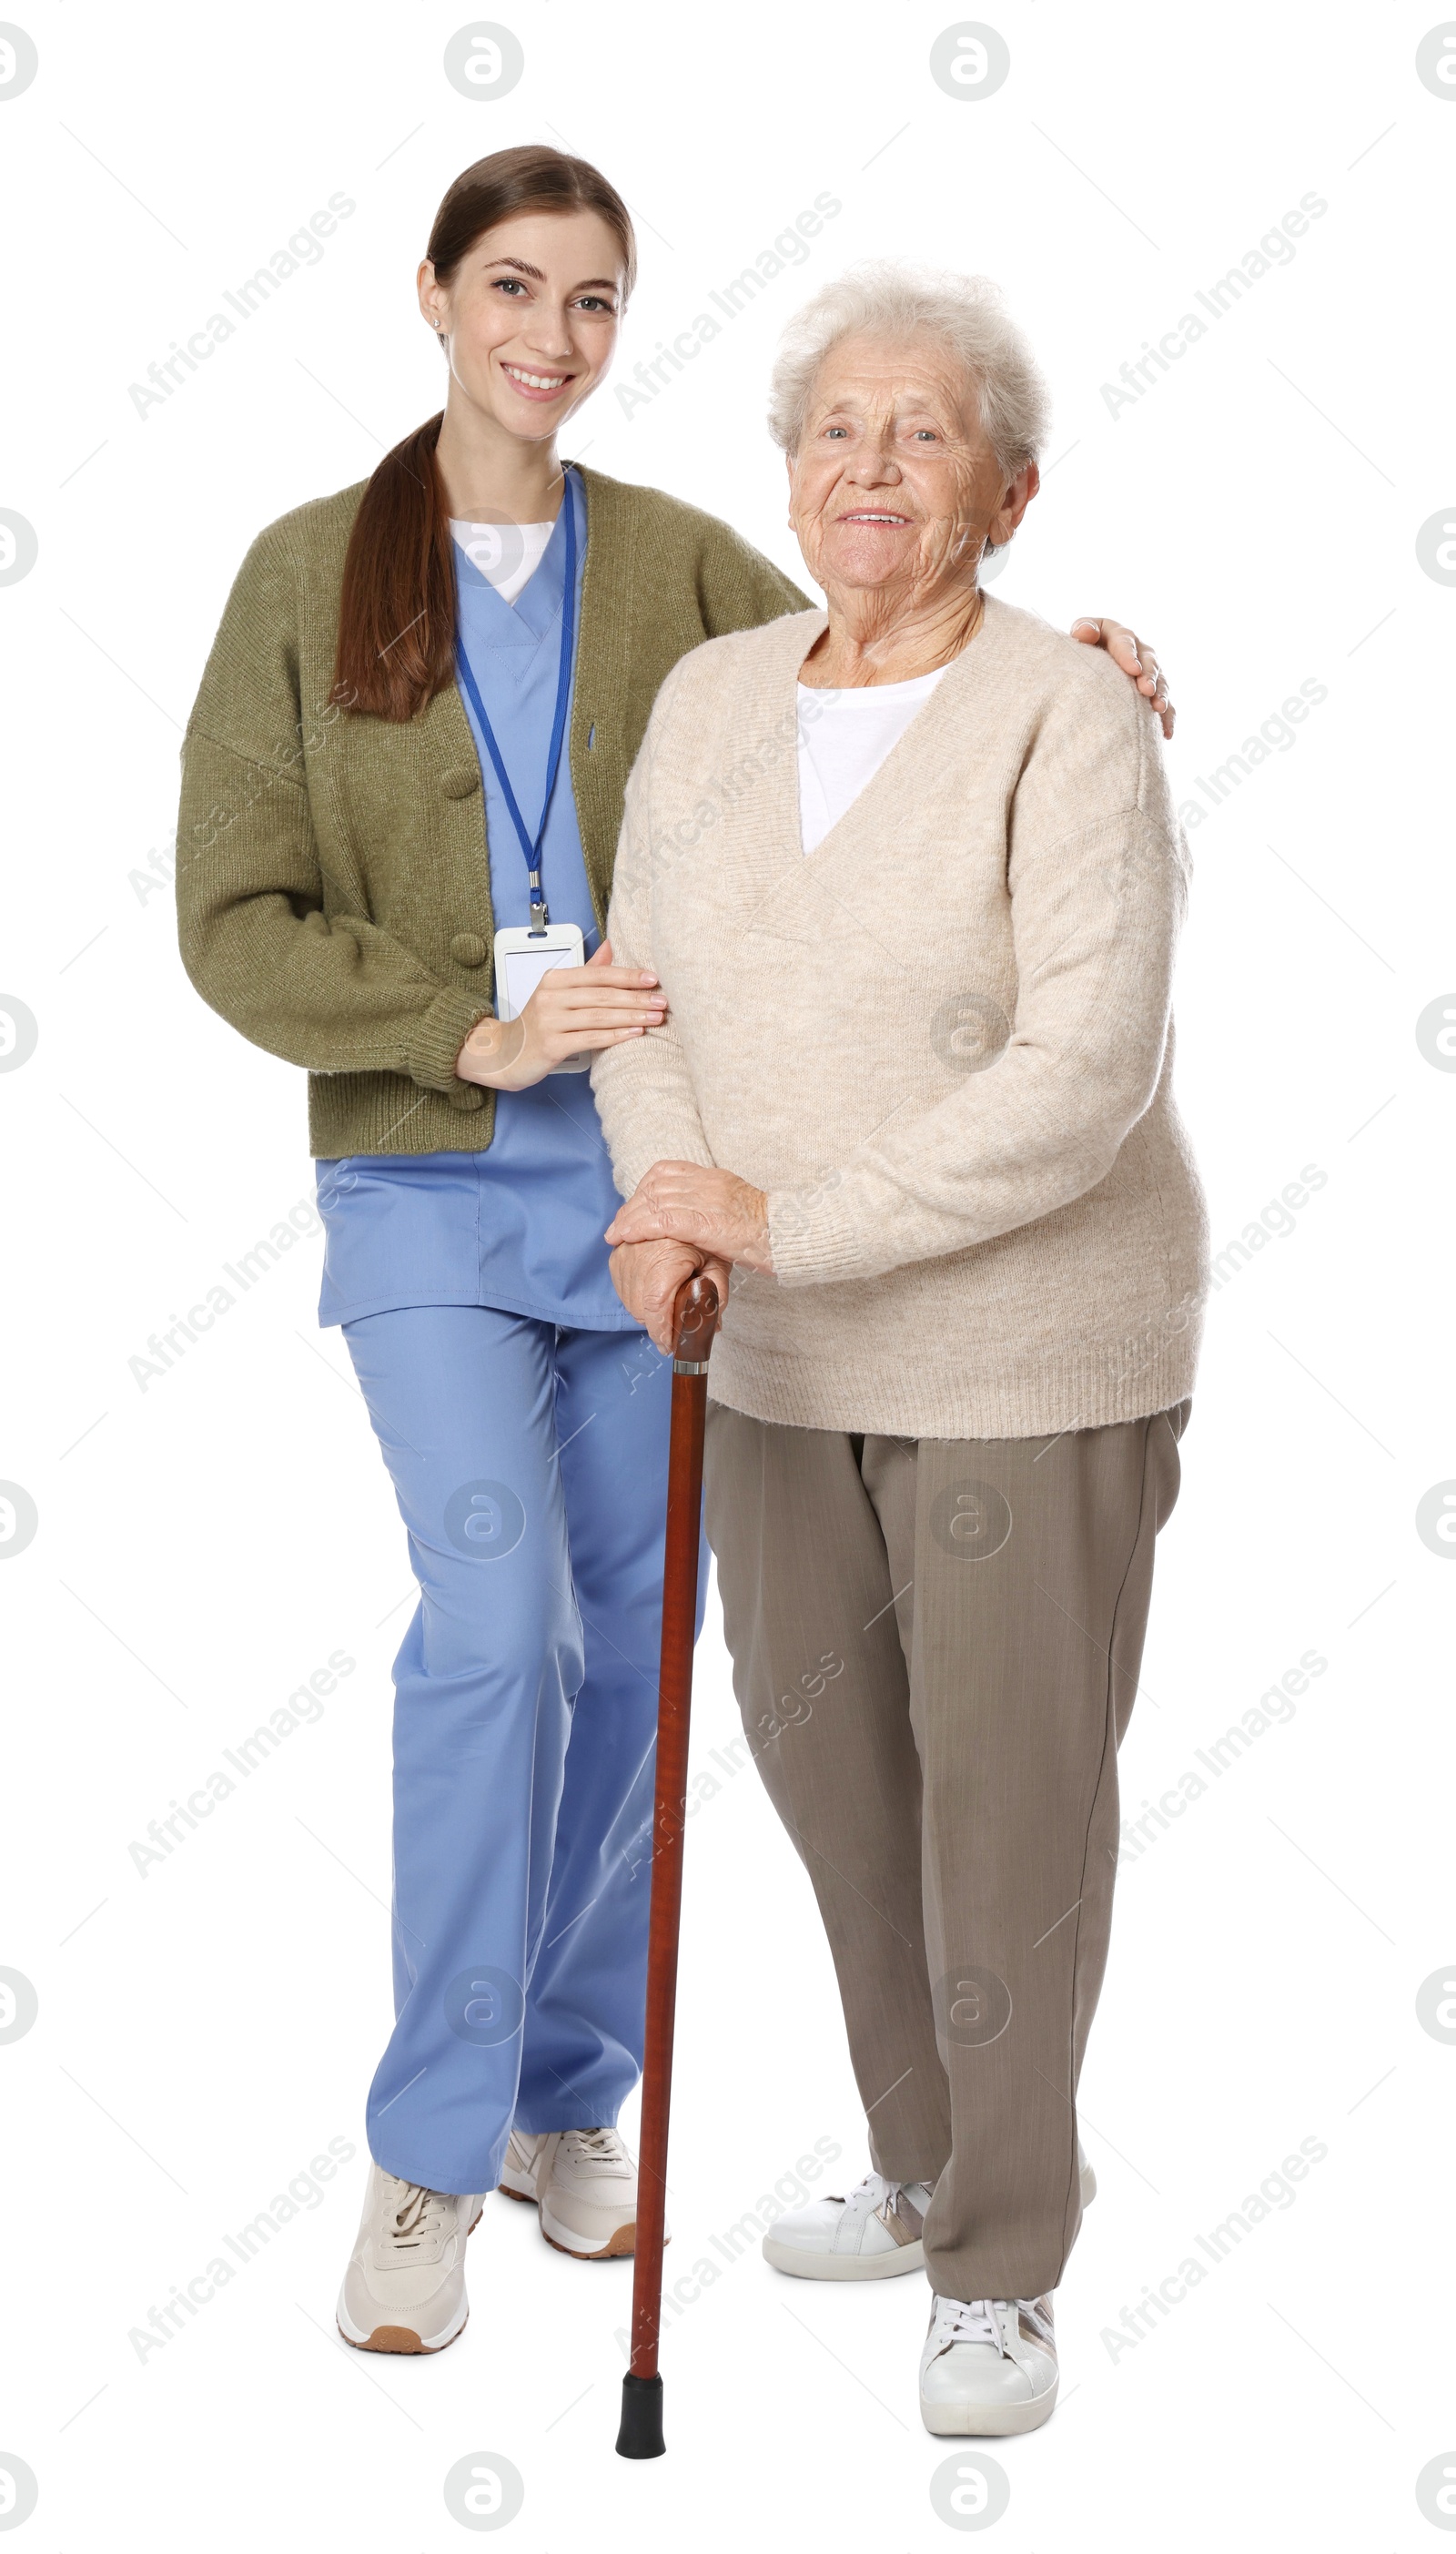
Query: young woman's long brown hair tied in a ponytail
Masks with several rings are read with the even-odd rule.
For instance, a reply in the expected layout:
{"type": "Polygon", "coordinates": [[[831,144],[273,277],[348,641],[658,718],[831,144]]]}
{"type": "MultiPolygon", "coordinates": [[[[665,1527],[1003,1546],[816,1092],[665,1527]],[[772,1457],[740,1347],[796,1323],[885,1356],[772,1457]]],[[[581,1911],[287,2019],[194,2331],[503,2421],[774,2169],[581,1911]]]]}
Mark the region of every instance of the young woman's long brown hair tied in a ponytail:
{"type": "MultiPolygon", "coordinates": [[[[631,215],[590,161],[524,143],[475,161],[447,189],[427,258],[442,283],[511,212],[600,212],[636,278],[631,215]]],[[[406,720],[455,682],[455,554],[434,447],[442,416],[406,434],[373,472],[345,557],[332,700],[406,720]]]]}

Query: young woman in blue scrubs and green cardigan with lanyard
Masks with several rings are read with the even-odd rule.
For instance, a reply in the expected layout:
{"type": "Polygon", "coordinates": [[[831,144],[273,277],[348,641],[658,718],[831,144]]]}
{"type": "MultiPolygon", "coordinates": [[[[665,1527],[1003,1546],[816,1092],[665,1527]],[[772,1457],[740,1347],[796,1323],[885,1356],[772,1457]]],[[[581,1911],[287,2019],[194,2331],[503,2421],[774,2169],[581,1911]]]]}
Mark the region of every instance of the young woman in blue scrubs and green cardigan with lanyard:
{"type": "MultiPolygon", "coordinates": [[[[631,2253],[667,1479],[582,1062],[667,1001],[603,940],[623,787],[687,649],[805,608],[725,524],[557,457],[633,281],[585,161],[501,151],[419,268],[444,414],[248,552],[184,748],[199,994],[309,1068],[340,1323],[409,1530],[393,2000],[340,2293],[360,2350],[442,2350],[490,2189],[631,2253]],[[493,932],[582,965],[493,1009],[493,932]]],[[[1152,656],[1109,644],[1165,710],[1152,656]]],[[[677,1249],[667,1244],[667,1249],[677,1249]]]]}

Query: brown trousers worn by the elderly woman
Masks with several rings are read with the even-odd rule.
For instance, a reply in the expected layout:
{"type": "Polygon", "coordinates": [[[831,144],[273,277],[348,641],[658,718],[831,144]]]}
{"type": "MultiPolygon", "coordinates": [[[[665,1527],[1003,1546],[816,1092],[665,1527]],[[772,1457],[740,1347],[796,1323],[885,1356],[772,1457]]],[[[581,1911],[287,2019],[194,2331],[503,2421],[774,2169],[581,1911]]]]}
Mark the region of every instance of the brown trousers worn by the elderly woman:
{"type": "Polygon", "coordinates": [[[1116,1749],[1188,1402],[973,1443],[708,1412],[759,1770],[820,1900],[871,2161],[940,2296],[1042,2296],[1081,2225],[1116,1749]]]}

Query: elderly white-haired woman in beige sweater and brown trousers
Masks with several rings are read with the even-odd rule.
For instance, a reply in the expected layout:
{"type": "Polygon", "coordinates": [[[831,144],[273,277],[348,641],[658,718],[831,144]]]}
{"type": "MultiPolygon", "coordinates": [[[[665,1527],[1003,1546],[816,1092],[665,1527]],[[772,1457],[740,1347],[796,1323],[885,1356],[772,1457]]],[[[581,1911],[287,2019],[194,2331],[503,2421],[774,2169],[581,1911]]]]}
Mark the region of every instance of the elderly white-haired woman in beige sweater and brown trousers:
{"type": "Polygon", "coordinates": [[[593,1065],[628,1310],[667,1346],[682,1274],[733,1272],[708,1538],[868,2115],[868,2179],[764,2250],[925,2265],[922,2416],[973,2437],[1055,2406],[1206,1254],[1155,713],[981,590],[1042,421],[981,278],[861,268],[792,324],[771,427],[828,613],[667,677],[608,930],[669,1011],[593,1065]]]}

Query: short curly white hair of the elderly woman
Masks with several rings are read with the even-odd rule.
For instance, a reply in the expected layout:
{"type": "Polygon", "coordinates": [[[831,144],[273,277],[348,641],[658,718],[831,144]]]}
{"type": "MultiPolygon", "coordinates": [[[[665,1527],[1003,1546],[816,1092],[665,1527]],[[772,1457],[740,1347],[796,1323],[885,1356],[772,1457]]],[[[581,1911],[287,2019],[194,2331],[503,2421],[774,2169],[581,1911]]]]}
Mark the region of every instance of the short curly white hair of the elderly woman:
{"type": "Polygon", "coordinates": [[[981,432],[1006,478],[1037,460],[1047,434],[1047,383],[989,276],[874,258],[825,283],[794,312],[769,381],[769,434],[800,450],[817,370],[840,337],[940,337],[966,373],[981,432]]]}

